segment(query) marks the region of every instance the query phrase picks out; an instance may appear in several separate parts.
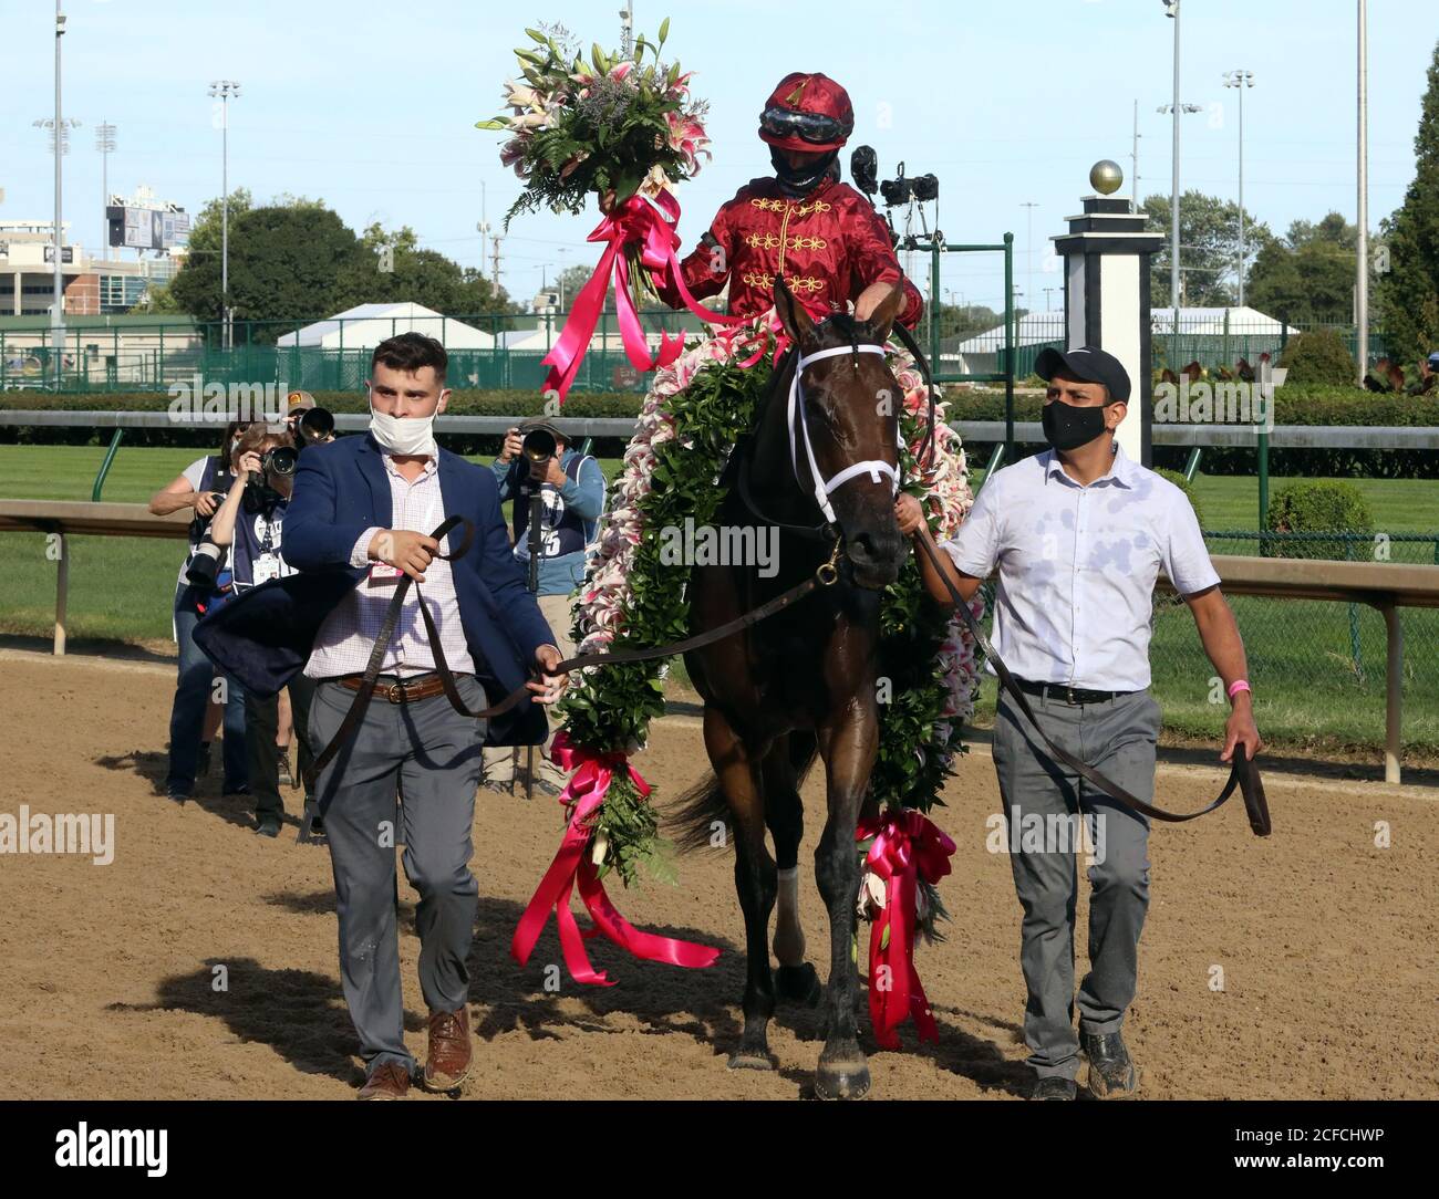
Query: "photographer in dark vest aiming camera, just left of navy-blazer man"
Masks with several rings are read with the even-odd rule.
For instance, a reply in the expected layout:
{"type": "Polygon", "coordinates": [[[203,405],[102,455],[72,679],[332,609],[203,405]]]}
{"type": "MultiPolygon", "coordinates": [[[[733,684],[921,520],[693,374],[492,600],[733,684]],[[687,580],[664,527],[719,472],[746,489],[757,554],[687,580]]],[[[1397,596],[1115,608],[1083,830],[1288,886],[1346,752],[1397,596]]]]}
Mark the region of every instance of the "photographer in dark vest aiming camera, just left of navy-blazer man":
{"type": "MultiPolygon", "coordinates": [[[[243,594],[252,587],[295,569],[285,562],[281,536],[285,510],[289,506],[299,451],[291,430],[285,426],[250,426],[240,436],[236,450],[235,482],[224,503],[214,513],[210,536],[216,545],[230,548],[235,591],[243,594]]],[[[308,738],[309,702],[314,680],[296,674],[288,684],[294,727],[299,742],[298,768],[301,775],[311,762],[308,738]]],[[[249,776],[255,794],[256,831],[278,837],[285,805],[279,795],[279,697],[245,697],[246,736],[249,743],[249,776]]],[[[305,796],[307,801],[309,796],[305,796]]]]}

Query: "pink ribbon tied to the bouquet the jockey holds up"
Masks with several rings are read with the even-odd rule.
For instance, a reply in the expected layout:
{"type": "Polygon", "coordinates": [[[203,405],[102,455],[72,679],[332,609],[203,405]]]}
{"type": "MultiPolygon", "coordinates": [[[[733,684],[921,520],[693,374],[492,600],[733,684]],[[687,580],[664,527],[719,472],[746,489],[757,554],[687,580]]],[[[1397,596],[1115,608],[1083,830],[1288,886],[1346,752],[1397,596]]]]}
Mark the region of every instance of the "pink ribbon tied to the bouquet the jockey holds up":
{"type": "Polygon", "coordinates": [[[679,221],[679,201],[669,191],[661,191],[655,200],[636,193],[623,204],[609,213],[586,239],[589,242],[604,242],[604,253],[590,282],[580,289],[570,309],[570,316],[560,331],[560,338],[544,357],[544,365],[550,367],[545,377],[545,390],[558,394],[560,401],[570,392],[570,385],[580,371],[580,362],[590,348],[594,336],[594,326],[600,322],[604,309],[604,293],[610,282],[614,282],[614,311],[619,318],[620,339],[625,344],[625,354],[630,364],[639,371],[655,371],[673,362],[685,348],[685,335],[659,335],[659,349],[653,358],[649,354],[649,344],[645,341],[645,329],[635,309],[635,298],[630,293],[629,259],[625,247],[637,243],[640,247],[639,260],[652,272],[661,272],[681,299],[695,316],[708,321],[711,325],[738,325],[741,318],[725,316],[701,308],[699,302],[685,286],[684,272],[675,250],[679,249],[679,234],[675,226],[679,221]]]}

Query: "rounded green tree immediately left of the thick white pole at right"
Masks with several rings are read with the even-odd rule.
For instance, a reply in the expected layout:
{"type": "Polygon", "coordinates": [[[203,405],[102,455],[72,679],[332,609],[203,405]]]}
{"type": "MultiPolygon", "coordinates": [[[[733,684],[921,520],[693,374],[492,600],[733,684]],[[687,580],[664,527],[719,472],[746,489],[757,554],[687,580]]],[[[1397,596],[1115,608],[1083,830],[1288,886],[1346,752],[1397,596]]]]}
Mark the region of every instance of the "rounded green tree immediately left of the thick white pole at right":
{"type": "Polygon", "coordinates": [[[1286,321],[1347,323],[1353,316],[1358,229],[1340,213],[1297,220],[1259,250],[1245,299],[1286,321]]]}

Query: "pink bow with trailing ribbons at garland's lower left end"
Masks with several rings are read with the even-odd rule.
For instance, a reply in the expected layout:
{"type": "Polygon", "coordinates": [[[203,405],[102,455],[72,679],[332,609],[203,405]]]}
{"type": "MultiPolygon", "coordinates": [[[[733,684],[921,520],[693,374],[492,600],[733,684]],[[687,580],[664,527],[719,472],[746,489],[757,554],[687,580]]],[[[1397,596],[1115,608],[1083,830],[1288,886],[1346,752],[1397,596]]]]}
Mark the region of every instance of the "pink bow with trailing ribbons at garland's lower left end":
{"type": "Polygon", "coordinates": [[[589,848],[593,832],[587,825],[590,815],[604,802],[604,792],[609,791],[616,772],[622,769],[629,772],[639,794],[648,796],[649,784],[640,778],[639,771],[629,765],[623,753],[591,753],[571,743],[566,733],[555,735],[550,756],[566,771],[574,772],[560,794],[560,802],[573,805],[573,809],[564,841],[560,842],[560,851],[550,863],[544,878],[540,880],[524,916],[519,917],[515,936],[509,943],[509,955],[521,966],[530,960],[553,909],[560,929],[560,952],[564,955],[564,965],[576,982],[597,986],[614,985],[606,978],[604,970],[596,970],[590,965],[590,956],[584,952],[584,939],[600,933],[636,957],[649,962],[669,962],[672,966],[689,968],[714,965],[720,956],[718,949],[676,937],[642,933],[633,927],[614,910],[610,897],[604,894],[599,868],[590,858],[589,848]],[[594,920],[591,929],[581,930],[570,910],[570,893],[576,887],[586,910],[594,920]]]}

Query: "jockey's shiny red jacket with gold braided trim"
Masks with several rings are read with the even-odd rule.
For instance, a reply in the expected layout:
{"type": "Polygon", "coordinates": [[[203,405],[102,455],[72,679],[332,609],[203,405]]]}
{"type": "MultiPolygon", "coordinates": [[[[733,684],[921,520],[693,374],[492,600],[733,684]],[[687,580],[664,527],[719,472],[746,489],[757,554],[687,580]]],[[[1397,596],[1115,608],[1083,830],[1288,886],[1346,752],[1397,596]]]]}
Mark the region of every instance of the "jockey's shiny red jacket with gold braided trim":
{"type": "MultiPolygon", "coordinates": [[[[750,180],[720,208],[681,270],[695,299],[717,295],[728,280],[734,316],[767,312],[774,305],[774,276],[781,273],[820,319],[842,311],[871,283],[904,279],[879,213],[859,191],[833,180],[803,200],[786,197],[774,178],[750,180]]],[[[908,279],[904,288],[899,322],[912,329],[924,299],[908,279]]],[[[671,308],[682,306],[673,288],[658,290],[671,308]]]]}

